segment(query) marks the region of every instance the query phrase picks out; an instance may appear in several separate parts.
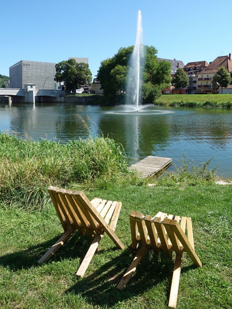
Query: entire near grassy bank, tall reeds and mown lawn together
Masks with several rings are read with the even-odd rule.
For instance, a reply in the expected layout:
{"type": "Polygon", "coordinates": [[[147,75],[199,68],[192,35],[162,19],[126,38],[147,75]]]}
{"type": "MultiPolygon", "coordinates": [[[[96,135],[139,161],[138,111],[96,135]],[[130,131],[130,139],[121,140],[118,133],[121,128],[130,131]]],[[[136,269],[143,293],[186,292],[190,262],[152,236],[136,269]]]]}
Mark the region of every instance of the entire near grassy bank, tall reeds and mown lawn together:
{"type": "Polygon", "coordinates": [[[136,254],[131,250],[131,210],[192,218],[203,267],[195,267],[184,253],[177,308],[232,308],[231,186],[216,185],[207,163],[192,172],[183,163],[182,170],[151,179],[156,186],[148,187],[147,180],[128,173],[123,149],[111,140],[62,145],[0,134],[0,308],[168,308],[175,254],[170,259],[148,250],[127,288],[116,289],[136,254]],[[47,196],[49,184],[82,189],[89,199],[122,201],[115,232],[125,249],[104,236],[85,276],[77,278],[92,239],[76,232],[47,263],[38,265],[62,235],[47,196]]]}

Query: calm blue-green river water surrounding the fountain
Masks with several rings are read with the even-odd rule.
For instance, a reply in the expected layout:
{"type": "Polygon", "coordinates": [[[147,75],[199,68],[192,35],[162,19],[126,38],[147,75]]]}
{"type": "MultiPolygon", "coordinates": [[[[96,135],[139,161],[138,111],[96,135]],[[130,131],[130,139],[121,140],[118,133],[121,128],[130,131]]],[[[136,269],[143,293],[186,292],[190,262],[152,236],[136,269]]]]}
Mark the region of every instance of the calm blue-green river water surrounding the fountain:
{"type": "Polygon", "coordinates": [[[221,162],[218,174],[232,177],[232,110],[150,106],[136,113],[120,107],[0,104],[0,130],[64,142],[86,138],[76,114],[88,122],[92,134],[102,132],[120,142],[132,162],[157,155],[173,158],[173,165],[179,165],[186,153],[199,164],[216,155],[211,167],[221,162]]]}

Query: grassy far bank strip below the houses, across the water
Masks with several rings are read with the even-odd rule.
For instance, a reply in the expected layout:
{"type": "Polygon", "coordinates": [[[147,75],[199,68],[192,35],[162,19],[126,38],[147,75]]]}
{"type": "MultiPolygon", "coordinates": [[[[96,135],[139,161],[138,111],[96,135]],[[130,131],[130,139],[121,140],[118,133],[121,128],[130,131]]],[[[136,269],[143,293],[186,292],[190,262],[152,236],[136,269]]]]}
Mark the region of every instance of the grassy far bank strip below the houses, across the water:
{"type": "Polygon", "coordinates": [[[232,95],[161,95],[156,105],[232,108],[232,95]]]}

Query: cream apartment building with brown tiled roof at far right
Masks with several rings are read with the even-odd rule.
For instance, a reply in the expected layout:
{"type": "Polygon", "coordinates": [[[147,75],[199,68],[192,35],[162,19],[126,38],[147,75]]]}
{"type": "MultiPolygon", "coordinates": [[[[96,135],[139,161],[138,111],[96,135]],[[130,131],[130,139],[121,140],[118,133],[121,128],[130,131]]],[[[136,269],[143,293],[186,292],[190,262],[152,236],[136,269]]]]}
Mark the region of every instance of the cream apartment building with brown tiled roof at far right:
{"type": "Polygon", "coordinates": [[[226,70],[232,73],[231,53],[229,56],[217,57],[209,65],[203,68],[198,74],[198,92],[209,92],[213,90],[213,76],[217,75],[217,71],[221,66],[225,66],[226,70]]]}

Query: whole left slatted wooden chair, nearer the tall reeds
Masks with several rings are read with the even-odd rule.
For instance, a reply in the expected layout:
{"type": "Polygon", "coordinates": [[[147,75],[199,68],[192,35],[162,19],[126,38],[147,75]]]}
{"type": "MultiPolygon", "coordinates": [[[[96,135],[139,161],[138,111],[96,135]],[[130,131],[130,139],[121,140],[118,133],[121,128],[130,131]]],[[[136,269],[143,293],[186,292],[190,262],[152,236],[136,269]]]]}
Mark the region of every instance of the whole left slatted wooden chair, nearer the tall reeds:
{"type": "Polygon", "coordinates": [[[49,260],[76,230],[81,235],[87,233],[90,237],[94,237],[76,273],[77,276],[84,276],[104,232],[118,248],[124,249],[123,243],[114,233],[122,206],[121,202],[102,200],[100,198],[89,201],[82,191],[71,191],[52,186],[48,188],[48,192],[64,229],[64,234],[38,260],[39,264],[49,260]]]}

